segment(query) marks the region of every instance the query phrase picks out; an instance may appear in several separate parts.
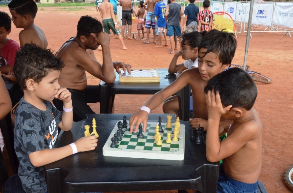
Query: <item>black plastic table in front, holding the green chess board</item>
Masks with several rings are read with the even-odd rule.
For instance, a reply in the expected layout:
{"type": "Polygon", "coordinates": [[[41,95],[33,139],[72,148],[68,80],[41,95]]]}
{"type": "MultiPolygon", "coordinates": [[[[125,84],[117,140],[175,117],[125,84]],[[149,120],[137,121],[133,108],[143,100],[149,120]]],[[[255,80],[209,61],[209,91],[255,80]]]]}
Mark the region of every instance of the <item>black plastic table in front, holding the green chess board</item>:
{"type": "MultiPolygon", "coordinates": [[[[193,189],[203,193],[217,190],[219,162],[206,159],[205,145],[189,139],[188,121],[180,121],[186,128],[184,160],[155,160],[103,156],[103,146],[118,120],[131,114],[91,114],[74,122],[70,131],[61,131],[56,147],[68,145],[84,136],[84,125],[92,126],[96,119],[98,146],[93,151],[79,152],[44,166],[48,193],[93,191],[155,191],[193,189]]],[[[149,121],[168,114],[150,114],[149,121]]],[[[128,120],[127,119],[127,120],[128,120]]],[[[173,115],[172,122],[175,122],[173,115]]],[[[163,120],[166,122],[166,120],[163,120]]]]}

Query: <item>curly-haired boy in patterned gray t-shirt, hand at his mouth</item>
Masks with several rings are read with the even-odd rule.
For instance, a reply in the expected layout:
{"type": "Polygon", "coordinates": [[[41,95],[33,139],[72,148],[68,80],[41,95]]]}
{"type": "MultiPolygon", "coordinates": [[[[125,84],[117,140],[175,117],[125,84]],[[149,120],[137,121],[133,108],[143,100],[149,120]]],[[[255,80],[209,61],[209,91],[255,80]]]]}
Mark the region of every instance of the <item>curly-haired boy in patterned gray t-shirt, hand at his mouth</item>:
{"type": "Polygon", "coordinates": [[[18,175],[27,193],[47,192],[43,165],[97,146],[96,136],[89,136],[52,149],[58,127],[65,131],[72,127],[71,93],[58,83],[63,67],[60,58],[36,44],[26,44],[16,53],[14,74],[24,97],[15,113],[14,146],[18,175]],[[63,112],[52,106],[54,98],[63,101],[63,112]]]}

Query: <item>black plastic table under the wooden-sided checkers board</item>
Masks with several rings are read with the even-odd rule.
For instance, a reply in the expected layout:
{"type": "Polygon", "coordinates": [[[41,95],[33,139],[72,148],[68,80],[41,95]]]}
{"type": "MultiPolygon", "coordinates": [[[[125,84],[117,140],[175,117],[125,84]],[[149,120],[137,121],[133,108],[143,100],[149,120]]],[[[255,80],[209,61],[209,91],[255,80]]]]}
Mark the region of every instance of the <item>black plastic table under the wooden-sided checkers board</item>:
{"type": "MultiPolygon", "coordinates": [[[[169,84],[176,80],[174,74],[169,74],[168,69],[158,69],[160,82],[154,83],[119,83],[119,74],[115,72],[116,79],[114,83],[107,84],[100,81],[100,113],[111,113],[115,95],[154,95],[157,91],[166,88],[169,84]],[[170,75],[170,79],[166,79],[166,75],[170,75]]],[[[189,120],[189,100],[190,86],[186,85],[183,89],[176,93],[179,97],[179,119],[189,120]]]]}

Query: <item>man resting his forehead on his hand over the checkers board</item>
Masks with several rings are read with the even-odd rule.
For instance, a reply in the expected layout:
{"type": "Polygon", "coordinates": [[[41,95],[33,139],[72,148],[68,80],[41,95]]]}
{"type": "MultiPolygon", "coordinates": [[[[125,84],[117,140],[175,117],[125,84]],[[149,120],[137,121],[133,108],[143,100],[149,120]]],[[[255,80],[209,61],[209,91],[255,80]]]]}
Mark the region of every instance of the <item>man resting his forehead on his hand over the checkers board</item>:
{"type": "MultiPolygon", "coordinates": [[[[82,16],[77,25],[76,36],[63,44],[57,53],[64,61],[64,68],[59,76],[61,87],[72,93],[73,120],[80,121],[87,114],[95,113],[87,103],[99,102],[99,86],[87,85],[85,71],[106,83],[114,82],[119,68],[130,72],[130,65],[122,62],[112,62],[110,53],[110,36],[103,32],[103,26],[96,18],[82,16]],[[103,65],[93,54],[99,45],[103,48],[103,65]],[[91,54],[85,50],[91,51],[91,54]]],[[[53,101],[57,109],[62,109],[62,101],[53,101]]]]}

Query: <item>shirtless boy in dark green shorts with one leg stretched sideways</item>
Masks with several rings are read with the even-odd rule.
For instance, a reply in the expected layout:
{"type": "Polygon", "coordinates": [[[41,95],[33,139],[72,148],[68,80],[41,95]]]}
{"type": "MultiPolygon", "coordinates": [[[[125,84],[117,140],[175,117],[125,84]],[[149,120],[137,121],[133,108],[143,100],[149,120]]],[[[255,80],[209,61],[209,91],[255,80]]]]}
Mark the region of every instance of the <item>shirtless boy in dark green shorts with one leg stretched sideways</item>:
{"type": "Polygon", "coordinates": [[[100,4],[99,8],[101,18],[103,18],[104,31],[107,34],[110,34],[111,29],[114,35],[117,34],[118,39],[122,44],[123,50],[126,50],[127,47],[125,47],[122,36],[118,30],[117,20],[113,12],[113,4],[109,3],[108,1],[103,1],[103,3],[100,4]]]}

